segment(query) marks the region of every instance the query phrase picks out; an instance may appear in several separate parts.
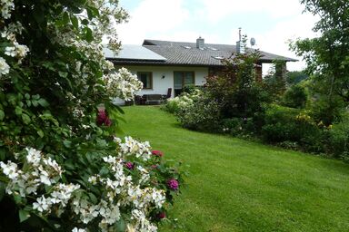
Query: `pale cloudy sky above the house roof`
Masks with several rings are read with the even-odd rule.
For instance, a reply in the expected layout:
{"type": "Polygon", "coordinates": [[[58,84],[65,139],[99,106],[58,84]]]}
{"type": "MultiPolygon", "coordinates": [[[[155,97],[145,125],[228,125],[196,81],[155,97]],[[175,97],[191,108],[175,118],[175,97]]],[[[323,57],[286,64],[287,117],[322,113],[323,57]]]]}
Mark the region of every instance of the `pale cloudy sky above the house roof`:
{"type": "MultiPolygon", "coordinates": [[[[122,43],[142,44],[144,39],[235,44],[238,28],[254,37],[256,48],[298,58],[288,50],[289,40],[314,37],[316,18],[302,14],[299,0],[121,0],[131,15],[117,25],[122,43]]],[[[291,71],[304,63],[289,63],[291,71]]],[[[267,68],[266,68],[267,69],[267,68]]],[[[265,70],[265,69],[264,69],[265,70]]]]}

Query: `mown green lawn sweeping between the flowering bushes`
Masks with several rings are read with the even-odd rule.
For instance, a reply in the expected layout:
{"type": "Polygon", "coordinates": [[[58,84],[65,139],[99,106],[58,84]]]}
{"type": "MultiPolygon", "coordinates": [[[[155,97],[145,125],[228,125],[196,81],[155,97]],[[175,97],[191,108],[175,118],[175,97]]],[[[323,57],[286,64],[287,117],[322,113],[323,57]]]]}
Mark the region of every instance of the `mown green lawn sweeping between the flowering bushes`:
{"type": "Polygon", "coordinates": [[[160,231],[349,231],[349,165],[220,135],[187,131],[159,107],[125,107],[125,134],[190,165],[160,231]]]}

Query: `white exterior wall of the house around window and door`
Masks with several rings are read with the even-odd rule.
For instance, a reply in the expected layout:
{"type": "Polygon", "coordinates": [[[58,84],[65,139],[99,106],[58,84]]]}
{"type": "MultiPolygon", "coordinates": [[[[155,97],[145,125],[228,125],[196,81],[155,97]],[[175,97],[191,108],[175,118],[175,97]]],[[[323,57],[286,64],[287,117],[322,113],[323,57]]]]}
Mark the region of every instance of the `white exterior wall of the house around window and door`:
{"type": "MultiPolygon", "coordinates": [[[[153,73],[153,89],[142,90],[137,92],[138,95],[143,94],[167,94],[167,89],[172,88],[172,97],[174,97],[174,72],[194,72],[195,85],[204,85],[205,77],[208,75],[207,67],[177,67],[177,66],[123,66],[131,73],[152,72],[153,73]],[[165,78],[163,78],[165,76],[165,78]]],[[[118,70],[121,66],[115,66],[118,70]]]]}

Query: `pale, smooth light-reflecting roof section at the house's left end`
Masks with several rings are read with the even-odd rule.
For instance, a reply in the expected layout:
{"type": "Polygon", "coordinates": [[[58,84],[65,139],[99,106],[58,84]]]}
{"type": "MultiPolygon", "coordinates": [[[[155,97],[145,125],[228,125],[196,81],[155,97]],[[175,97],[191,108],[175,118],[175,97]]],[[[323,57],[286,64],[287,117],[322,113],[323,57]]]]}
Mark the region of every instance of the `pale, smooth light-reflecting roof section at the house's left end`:
{"type": "Polygon", "coordinates": [[[118,60],[139,60],[139,61],[165,61],[166,58],[146,49],[141,45],[123,44],[118,53],[108,48],[103,49],[105,58],[118,60]]]}

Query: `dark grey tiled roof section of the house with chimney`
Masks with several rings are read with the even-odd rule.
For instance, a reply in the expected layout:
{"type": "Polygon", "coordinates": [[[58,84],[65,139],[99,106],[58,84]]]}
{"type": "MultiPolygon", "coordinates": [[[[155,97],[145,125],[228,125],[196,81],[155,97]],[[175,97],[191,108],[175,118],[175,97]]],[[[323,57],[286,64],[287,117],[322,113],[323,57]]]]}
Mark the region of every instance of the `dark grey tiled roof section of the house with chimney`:
{"type": "MultiPolygon", "coordinates": [[[[171,42],[160,40],[145,40],[143,46],[158,55],[165,57],[165,60],[142,61],[139,59],[113,59],[114,63],[130,64],[155,64],[155,65],[191,65],[191,66],[222,66],[222,58],[228,58],[236,53],[236,46],[230,44],[205,43],[204,49],[196,48],[196,43],[171,42]]],[[[255,51],[247,49],[247,51],[255,51]]],[[[274,60],[295,62],[297,60],[276,55],[273,53],[260,52],[261,63],[272,63],[274,60]]],[[[132,57],[132,54],[130,55],[132,57]]]]}

